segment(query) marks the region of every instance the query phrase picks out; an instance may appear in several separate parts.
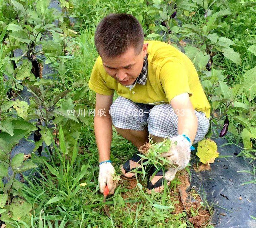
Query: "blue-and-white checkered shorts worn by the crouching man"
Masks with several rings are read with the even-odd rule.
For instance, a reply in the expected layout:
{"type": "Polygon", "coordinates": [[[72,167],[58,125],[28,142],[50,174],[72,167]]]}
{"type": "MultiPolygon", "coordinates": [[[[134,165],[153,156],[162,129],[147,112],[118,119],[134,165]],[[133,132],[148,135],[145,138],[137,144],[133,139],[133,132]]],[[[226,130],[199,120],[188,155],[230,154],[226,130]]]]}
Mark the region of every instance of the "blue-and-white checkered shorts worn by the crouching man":
{"type": "MultiPolygon", "coordinates": [[[[210,118],[207,119],[201,111],[194,111],[198,125],[193,144],[202,140],[210,128],[210,118]]],[[[149,134],[154,136],[178,136],[178,116],[170,104],[135,103],[119,96],[110,105],[109,113],[117,128],[142,131],[148,127],[149,134]]]]}

